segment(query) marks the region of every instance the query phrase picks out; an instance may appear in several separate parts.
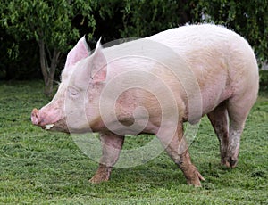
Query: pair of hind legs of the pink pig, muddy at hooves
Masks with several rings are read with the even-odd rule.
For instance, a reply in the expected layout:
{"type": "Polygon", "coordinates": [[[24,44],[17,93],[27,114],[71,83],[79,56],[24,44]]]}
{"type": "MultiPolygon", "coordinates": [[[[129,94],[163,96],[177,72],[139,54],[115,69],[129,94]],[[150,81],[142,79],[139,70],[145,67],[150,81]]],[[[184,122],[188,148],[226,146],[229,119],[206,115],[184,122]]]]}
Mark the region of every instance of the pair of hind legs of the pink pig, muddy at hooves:
{"type": "Polygon", "coordinates": [[[220,141],[222,165],[228,168],[234,168],[238,163],[240,137],[254,102],[255,99],[248,101],[234,96],[207,114],[220,141]]]}

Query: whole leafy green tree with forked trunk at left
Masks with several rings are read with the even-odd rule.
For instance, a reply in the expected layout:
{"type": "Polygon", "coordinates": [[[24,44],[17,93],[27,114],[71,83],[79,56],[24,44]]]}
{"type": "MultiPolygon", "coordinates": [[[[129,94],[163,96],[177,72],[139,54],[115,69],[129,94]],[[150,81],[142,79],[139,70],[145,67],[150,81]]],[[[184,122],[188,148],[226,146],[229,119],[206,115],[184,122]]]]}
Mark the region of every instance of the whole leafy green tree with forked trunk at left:
{"type": "Polygon", "coordinates": [[[73,21],[80,21],[80,25],[87,24],[91,28],[88,35],[92,37],[96,27],[92,11],[96,7],[96,1],[11,0],[2,1],[1,4],[1,22],[8,34],[18,41],[35,39],[38,43],[45,94],[51,95],[60,57],[80,37],[73,21]]]}

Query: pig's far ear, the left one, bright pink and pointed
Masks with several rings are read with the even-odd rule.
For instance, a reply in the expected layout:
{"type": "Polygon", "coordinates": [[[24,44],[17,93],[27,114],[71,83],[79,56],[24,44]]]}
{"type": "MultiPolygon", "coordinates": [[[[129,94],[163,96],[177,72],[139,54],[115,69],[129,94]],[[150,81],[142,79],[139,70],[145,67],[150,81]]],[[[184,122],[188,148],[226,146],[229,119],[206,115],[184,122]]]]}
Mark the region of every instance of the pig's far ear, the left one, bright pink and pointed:
{"type": "Polygon", "coordinates": [[[90,50],[88,48],[86,38],[85,36],[81,37],[79,42],[68,53],[65,68],[74,65],[76,62],[84,58],[87,58],[89,54],[90,50]]]}

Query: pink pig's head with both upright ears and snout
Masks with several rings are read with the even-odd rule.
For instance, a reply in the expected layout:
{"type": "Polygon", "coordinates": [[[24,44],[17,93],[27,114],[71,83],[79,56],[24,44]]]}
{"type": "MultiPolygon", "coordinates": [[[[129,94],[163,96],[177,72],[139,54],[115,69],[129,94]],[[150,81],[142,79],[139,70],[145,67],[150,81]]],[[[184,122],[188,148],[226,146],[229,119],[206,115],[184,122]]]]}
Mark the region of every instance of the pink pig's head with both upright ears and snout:
{"type": "Polygon", "coordinates": [[[85,37],[68,53],[62,82],[46,106],[33,109],[31,121],[47,130],[84,133],[102,127],[98,104],[107,65],[100,41],[90,56],[85,37]]]}

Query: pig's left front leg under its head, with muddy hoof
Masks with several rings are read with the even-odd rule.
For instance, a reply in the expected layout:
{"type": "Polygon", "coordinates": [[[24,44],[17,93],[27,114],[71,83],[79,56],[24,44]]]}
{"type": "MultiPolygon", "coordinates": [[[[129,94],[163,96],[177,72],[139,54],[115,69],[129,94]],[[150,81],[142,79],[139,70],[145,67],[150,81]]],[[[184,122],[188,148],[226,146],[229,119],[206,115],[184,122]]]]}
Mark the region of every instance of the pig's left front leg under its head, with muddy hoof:
{"type": "Polygon", "coordinates": [[[102,134],[100,140],[103,147],[103,155],[95,176],[89,180],[93,184],[109,180],[113,165],[119,158],[124,136],[114,135],[112,133],[102,134]]]}

